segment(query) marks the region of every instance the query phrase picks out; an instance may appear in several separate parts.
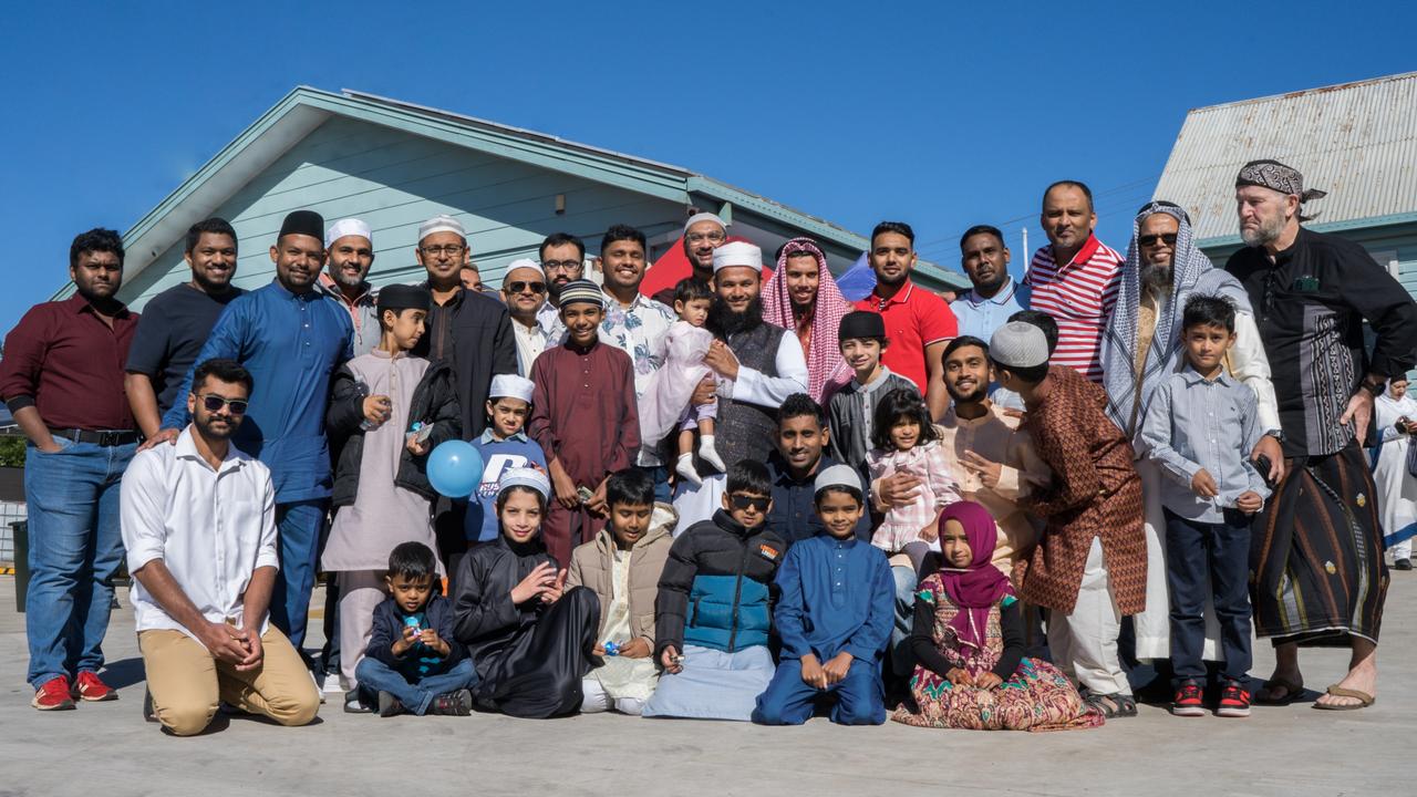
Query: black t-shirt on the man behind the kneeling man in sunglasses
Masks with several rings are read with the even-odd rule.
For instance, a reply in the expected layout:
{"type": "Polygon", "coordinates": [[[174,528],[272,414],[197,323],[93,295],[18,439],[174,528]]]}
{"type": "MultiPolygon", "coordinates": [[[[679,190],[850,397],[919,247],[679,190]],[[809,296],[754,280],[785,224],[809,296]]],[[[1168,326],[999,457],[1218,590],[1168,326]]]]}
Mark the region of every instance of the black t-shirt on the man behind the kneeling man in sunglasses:
{"type": "Polygon", "coordinates": [[[153,380],[159,414],[173,406],[187,369],[201,353],[221,311],[244,292],[234,288],[222,296],[211,296],[184,282],[157,294],[143,308],[125,369],[153,380]]]}

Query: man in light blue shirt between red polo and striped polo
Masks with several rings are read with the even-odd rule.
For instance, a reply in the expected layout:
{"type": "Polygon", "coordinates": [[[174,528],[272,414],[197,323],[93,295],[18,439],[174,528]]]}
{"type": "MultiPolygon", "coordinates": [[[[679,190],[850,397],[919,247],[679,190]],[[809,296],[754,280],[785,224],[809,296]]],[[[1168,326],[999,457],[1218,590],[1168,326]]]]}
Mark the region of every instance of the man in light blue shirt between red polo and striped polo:
{"type": "Polygon", "coordinates": [[[979,224],[959,237],[959,265],[972,289],[949,303],[959,335],[988,340],[1009,316],[1029,309],[1032,289],[1009,277],[1009,247],[998,227],[979,224]]]}

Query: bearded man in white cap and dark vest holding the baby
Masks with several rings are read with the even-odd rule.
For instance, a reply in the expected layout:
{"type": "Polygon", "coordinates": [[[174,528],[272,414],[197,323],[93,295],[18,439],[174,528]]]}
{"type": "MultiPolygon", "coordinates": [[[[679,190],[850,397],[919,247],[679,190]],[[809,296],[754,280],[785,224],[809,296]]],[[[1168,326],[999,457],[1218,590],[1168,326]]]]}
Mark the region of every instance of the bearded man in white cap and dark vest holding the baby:
{"type": "MultiPolygon", "coordinates": [[[[714,303],[707,328],[714,342],[704,364],[720,377],[714,447],[733,468],[741,459],[768,458],[778,407],[788,396],[806,391],[806,359],[795,335],[762,321],[762,250],[741,241],[724,244],[714,250],[713,265],[714,303]]],[[[703,393],[700,386],[696,403],[703,393]]],[[[697,458],[694,469],[711,472],[697,458]]],[[[713,518],[723,506],[723,474],[706,476],[701,485],[680,482],[674,495],[680,525],[713,518]]]]}

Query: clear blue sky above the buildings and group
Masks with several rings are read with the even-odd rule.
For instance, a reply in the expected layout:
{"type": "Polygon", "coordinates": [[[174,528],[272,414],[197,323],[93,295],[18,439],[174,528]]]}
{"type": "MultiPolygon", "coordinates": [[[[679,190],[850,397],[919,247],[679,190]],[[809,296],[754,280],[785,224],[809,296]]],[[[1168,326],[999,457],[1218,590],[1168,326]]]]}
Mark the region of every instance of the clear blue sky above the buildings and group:
{"type": "Polygon", "coordinates": [[[674,163],[857,233],[905,220],[949,267],[999,224],[1020,267],[1063,177],[1125,248],[1190,108],[1417,69],[1407,3],[45,6],[0,26],[0,332],[65,281],[75,233],[128,230],[298,84],[674,163]]]}

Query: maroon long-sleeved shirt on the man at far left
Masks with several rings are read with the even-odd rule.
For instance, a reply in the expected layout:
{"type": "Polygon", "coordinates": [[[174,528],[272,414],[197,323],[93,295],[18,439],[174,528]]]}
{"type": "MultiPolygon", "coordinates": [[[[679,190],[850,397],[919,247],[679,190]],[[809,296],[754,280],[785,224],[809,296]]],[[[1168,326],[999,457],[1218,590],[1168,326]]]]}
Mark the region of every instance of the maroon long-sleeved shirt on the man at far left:
{"type": "Polygon", "coordinates": [[[123,390],[136,330],[137,313],[120,309],[111,329],[78,294],[34,305],[4,339],[0,398],[38,408],[50,428],[137,428],[123,390]]]}

